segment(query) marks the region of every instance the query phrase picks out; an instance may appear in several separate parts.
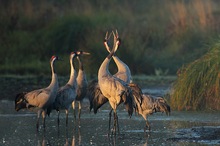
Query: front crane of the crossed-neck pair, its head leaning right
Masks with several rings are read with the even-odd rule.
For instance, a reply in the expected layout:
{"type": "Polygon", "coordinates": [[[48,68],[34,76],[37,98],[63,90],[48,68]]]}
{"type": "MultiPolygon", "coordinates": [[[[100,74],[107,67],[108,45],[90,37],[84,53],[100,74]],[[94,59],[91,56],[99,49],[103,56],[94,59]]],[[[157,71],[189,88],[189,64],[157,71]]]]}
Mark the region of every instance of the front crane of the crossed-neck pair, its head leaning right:
{"type": "Polygon", "coordinates": [[[112,49],[109,55],[102,62],[98,71],[98,84],[100,90],[102,94],[109,100],[109,103],[114,111],[114,127],[113,127],[114,134],[116,134],[116,127],[118,126],[118,116],[116,111],[117,106],[121,102],[124,102],[124,105],[129,115],[131,116],[133,113],[133,97],[130,88],[127,86],[127,84],[124,81],[111,75],[108,70],[109,62],[112,56],[114,55],[114,53],[117,51],[119,43],[120,41],[117,40],[116,46],[112,49]]]}

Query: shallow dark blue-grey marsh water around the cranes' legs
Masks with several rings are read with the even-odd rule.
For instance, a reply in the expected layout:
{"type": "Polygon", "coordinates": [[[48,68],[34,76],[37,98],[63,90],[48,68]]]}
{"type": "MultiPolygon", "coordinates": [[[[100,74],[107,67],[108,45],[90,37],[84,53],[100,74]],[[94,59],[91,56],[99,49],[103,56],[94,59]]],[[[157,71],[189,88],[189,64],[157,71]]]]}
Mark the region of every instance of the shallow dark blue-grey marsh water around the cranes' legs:
{"type": "MultiPolygon", "coordinates": [[[[169,86],[143,88],[144,93],[157,96],[168,91],[169,86]]],[[[53,111],[46,118],[46,129],[40,121],[37,132],[36,113],[16,112],[13,100],[3,98],[0,100],[0,145],[220,145],[219,112],[171,111],[170,116],[155,113],[148,117],[151,131],[144,132],[144,119],[136,114],[129,118],[121,105],[118,108],[120,134],[114,136],[108,135],[109,109],[107,103],[97,114],[89,112],[89,102],[85,99],[80,121],[74,120],[71,110],[66,126],[65,113],[61,112],[58,126],[57,113],[53,111]]]]}

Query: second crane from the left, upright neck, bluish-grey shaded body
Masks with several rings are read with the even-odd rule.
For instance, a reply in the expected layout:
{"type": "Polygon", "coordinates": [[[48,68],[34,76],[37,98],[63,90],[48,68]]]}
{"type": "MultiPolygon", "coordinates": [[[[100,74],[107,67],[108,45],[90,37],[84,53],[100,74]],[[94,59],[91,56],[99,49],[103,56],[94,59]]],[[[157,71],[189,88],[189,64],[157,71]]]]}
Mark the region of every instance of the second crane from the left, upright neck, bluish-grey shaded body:
{"type": "Polygon", "coordinates": [[[66,126],[68,125],[68,114],[70,106],[74,105],[73,102],[76,98],[76,70],[74,68],[74,59],[77,56],[77,52],[70,53],[70,77],[69,81],[59,88],[57,96],[53,104],[48,108],[47,114],[50,115],[51,110],[55,109],[58,113],[57,123],[60,124],[60,110],[65,110],[66,113],[66,126]]]}

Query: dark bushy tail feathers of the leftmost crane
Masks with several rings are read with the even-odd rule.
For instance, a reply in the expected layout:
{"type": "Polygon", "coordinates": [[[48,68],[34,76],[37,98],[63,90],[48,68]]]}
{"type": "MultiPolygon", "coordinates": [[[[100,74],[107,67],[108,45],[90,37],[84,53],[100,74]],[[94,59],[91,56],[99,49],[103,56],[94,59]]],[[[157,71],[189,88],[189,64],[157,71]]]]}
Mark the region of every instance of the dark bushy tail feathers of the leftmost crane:
{"type": "Polygon", "coordinates": [[[22,92],[16,95],[15,97],[15,110],[16,111],[26,108],[27,100],[24,98],[25,94],[26,92],[22,92]]]}

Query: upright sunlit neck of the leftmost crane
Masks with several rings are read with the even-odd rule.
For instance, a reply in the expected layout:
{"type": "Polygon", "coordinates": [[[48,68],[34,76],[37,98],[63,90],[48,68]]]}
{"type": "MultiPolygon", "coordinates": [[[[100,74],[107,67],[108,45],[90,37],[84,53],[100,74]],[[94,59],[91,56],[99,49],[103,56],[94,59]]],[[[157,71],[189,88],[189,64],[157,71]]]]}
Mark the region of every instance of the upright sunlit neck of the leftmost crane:
{"type": "Polygon", "coordinates": [[[51,90],[54,89],[54,91],[55,91],[55,90],[58,90],[59,85],[58,85],[57,74],[56,74],[56,71],[55,71],[55,68],[54,68],[54,61],[52,61],[50,63],[50,66],[51,66],[51,72],[52,72],[52,79],[51,79],[50,85],[47,88],[49,88],[51,90]]]}

